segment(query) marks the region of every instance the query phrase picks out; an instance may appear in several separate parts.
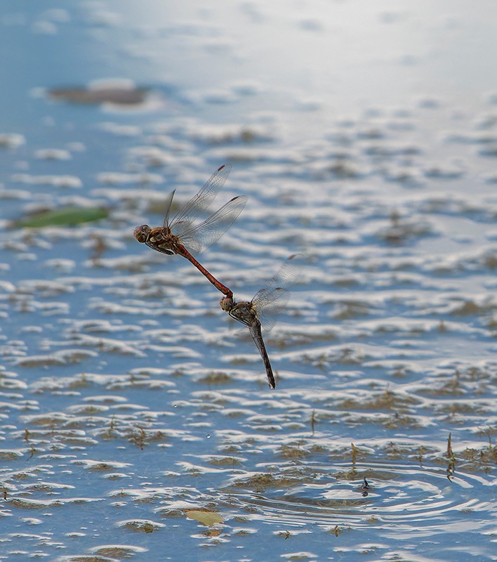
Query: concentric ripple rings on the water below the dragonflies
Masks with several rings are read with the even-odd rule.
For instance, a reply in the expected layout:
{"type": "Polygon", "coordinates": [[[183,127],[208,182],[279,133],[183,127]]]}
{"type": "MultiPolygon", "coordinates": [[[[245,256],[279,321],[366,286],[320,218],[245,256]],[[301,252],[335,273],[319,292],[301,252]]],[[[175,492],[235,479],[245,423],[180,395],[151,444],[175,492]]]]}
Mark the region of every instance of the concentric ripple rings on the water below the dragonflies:
{"type": "Polygon", "coordinates": [[[407,535],[450,532],[464,521],[466,528],[478,528],[475,514],[497,512],[490,493],[495,479],[479,474],[457,473],[447,477],[444,469],[429,469],[406,464],[313,466],[312,481],[291,488],[267,488],[260,493],[234,492],[230,499],[250,518],[273,525],[303,527],[319,525],[330,530],[376,527],[407,535]],[[364,495],[363,482],[369,485],[364,495]],[[482,488],[488,487],[485,493],[482,488]],[[489,497],[483,501],[482,497],[489,497]],[[468,521],[468,518],[470,521],[468,521]]]}

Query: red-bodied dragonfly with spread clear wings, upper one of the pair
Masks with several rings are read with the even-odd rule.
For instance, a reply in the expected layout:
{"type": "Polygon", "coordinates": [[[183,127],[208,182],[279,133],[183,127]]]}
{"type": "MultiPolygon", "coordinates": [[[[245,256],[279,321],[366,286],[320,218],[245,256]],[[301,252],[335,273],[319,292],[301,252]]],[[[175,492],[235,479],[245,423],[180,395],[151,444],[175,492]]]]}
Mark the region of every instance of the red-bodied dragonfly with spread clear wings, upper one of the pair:
{"type": "Polygon", "coordinates": [[[173,190],[166,202],[166,216],[163,226],[150,228],[147,224],[137,226],[133,235],[138,242],[147,244],[149,248],[162,254],[178,254],[192,263],[207,279],[226,297],[232,298],[229,287],[223,285],[204,266],[194,258],[195,254],[204,251],[208,246],[220,239],[232,223],[243,211],[247,197],[241,195],[233,197],[223,207],[211,214],[205,221],[199,223],[199,217],[213,202],[232,169],[231,164],[220,166],[206,181],[201,190],[185,204],[176,216],[169,221],[169,213],[173,204],[176,190],[173,190]]]}

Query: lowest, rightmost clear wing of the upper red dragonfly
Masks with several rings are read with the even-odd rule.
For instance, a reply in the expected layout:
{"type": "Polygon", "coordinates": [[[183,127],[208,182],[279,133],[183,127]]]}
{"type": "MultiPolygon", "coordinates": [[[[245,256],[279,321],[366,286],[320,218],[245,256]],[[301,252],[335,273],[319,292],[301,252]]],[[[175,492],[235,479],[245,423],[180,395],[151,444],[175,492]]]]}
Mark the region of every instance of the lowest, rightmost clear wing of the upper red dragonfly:
{"type": "Polygon", "coordinates": [[[181,234],[178,234],[178,232],[175,232],[175,234],[192,254],[199,254],[223,236],[243,211],[246,202],[247,197],[244,195],[233,197],[203,223],[190,226],[187,230],[183,230],[181,234]]]}

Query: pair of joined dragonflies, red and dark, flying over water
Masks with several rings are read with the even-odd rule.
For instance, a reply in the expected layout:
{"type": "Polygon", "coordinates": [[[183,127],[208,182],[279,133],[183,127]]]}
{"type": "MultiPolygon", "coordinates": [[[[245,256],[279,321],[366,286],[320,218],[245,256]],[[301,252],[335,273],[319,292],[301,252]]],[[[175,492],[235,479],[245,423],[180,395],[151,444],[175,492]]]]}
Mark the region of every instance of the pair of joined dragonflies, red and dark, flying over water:
{"type": "Polygon", "coordinates": [[[150,228],[150,226],[144,224],[137,226],[133,234],[138,242],[147,244],[148,247],[163,254],[183,256],[203,273],[218,291],[223,293],[220,307],[234,320],[238,320],[248,327],[263,358],[269,386],[275,388],[276,382],[265,348],[261,326],[265,329],[271,329],[274,324],[274,315],[281,311],[288,301],[289,289],[293,285],[298,272],[294,265],[296,256],[290,256],[277,274],[257,292],[250,302],[239,303],[234,300],[232,290],[218,281],[193,256],[193,254],[199,254],[206,247],[219,240],[245,207],[246,197],[233,197],[205,221],[197,223],[197,219],[213,202],[220,189],[223,188],[231,168],[231,164],[225,164],[216,170],[197,195],[187,202],[185,207],[169,221],[169,211],[171,211],[175,190],[171,192],[166,204],[163,226],[150,228]]]}

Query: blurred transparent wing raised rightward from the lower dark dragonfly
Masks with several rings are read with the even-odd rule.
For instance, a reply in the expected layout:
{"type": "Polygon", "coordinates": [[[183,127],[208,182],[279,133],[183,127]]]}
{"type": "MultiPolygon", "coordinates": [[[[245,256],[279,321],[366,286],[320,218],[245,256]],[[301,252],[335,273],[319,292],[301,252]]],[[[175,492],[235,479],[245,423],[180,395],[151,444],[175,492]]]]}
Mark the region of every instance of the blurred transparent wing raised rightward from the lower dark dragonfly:
{"type": "Polygon", "coordinates": [[[301,267],[298,258],[302,254],[293,254],[287,259],[276,275],[256,293],[252,299],[252,309],[256,312],[258,319],[264,329],[271,329],[276,320],[275,316],[280,313],[290,298],[290,289],[300,275],[301,267]]]}

